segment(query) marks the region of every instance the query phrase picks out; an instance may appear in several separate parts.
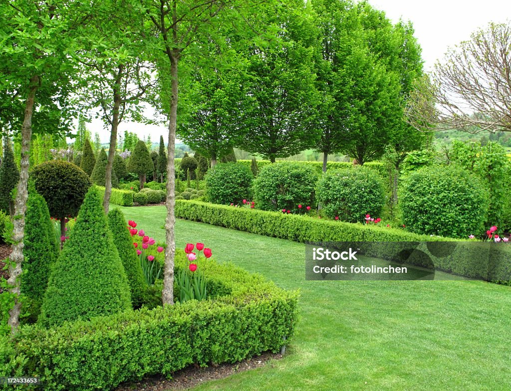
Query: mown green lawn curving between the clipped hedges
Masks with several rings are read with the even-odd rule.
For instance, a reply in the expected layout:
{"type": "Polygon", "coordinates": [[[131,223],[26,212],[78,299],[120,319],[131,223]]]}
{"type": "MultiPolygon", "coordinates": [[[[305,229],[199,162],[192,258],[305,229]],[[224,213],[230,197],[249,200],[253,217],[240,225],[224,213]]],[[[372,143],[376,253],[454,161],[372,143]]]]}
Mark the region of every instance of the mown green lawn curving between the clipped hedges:
{"type": "MultiPolygon", "coordinates": [[[[165,207],[121,208],[165,240],[165,207]]],[[[287,355],[203,390],[509,390],[511,289],[480,281],[305,281],[305,245],[178,220],[176,247],[204,242],[299,288],[287,355]]]]}

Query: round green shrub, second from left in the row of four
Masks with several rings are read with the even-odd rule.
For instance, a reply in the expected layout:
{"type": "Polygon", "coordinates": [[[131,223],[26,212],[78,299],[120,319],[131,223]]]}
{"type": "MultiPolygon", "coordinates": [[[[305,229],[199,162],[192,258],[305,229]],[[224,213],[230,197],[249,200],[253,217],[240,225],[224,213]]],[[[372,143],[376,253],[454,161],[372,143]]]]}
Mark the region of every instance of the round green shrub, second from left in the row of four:
{"type": "Polygon", "coordinates": [[[297,210],[299,204],[313,206],[316,181],[317,174],[310,166],[293,162],[269,164],[254,180],[255,205],[263,210],[297,210]]]}

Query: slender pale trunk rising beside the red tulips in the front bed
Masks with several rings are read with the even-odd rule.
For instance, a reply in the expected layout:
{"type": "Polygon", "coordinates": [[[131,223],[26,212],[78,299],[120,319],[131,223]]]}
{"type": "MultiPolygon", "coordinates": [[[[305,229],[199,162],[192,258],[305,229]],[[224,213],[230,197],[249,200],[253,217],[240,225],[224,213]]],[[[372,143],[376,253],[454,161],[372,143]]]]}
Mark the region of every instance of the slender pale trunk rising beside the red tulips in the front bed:
{"type": "Polygon", "coordinates": [[[176,217],[174,215],[175,199],[175,168],[174,168],[174,144],[176,141],[177,126],[177,62],[179,54],[177,50],[172,51],[170,56],[170,74],[172,78],[172,97],[170,101],[169,116],[169,145],[167,146],[167,219],[165,221],[166,244],[165,249],[165,267],[163,276],[163,291],[161,300],[164,305],[174,304],[174,255],[176,252],[176,242],[174,237],[174,226],[176,217]]]}

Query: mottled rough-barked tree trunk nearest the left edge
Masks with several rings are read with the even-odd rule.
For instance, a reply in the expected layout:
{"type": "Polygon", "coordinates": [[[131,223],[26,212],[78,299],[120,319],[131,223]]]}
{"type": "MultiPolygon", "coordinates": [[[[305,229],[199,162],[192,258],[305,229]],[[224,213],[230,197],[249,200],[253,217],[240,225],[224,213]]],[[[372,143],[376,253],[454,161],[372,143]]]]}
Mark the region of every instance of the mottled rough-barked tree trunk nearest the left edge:
{"type": "Polygon", "coordinates": [[[25,237],[25,212],[27,210],[30,165],[30,139],[32,138],[32,112],[34,108],[35,93],[39,87],[39,77],[32,76],[30,79],[30,90],[25,103],[25,117],[21,127],[21,161],[19,170],[19,182],[14,202],[14,229],[13,244],[10,260],[14,262],[9,265],[9,279],[7,283],[11,288],[9,291],[14,295],[14,307],[9,311],[9,327],[14,334],[19,326],[19,312],[21,303],[19,302],[21,263],[23,262],[23,239],[25,237]]]}

